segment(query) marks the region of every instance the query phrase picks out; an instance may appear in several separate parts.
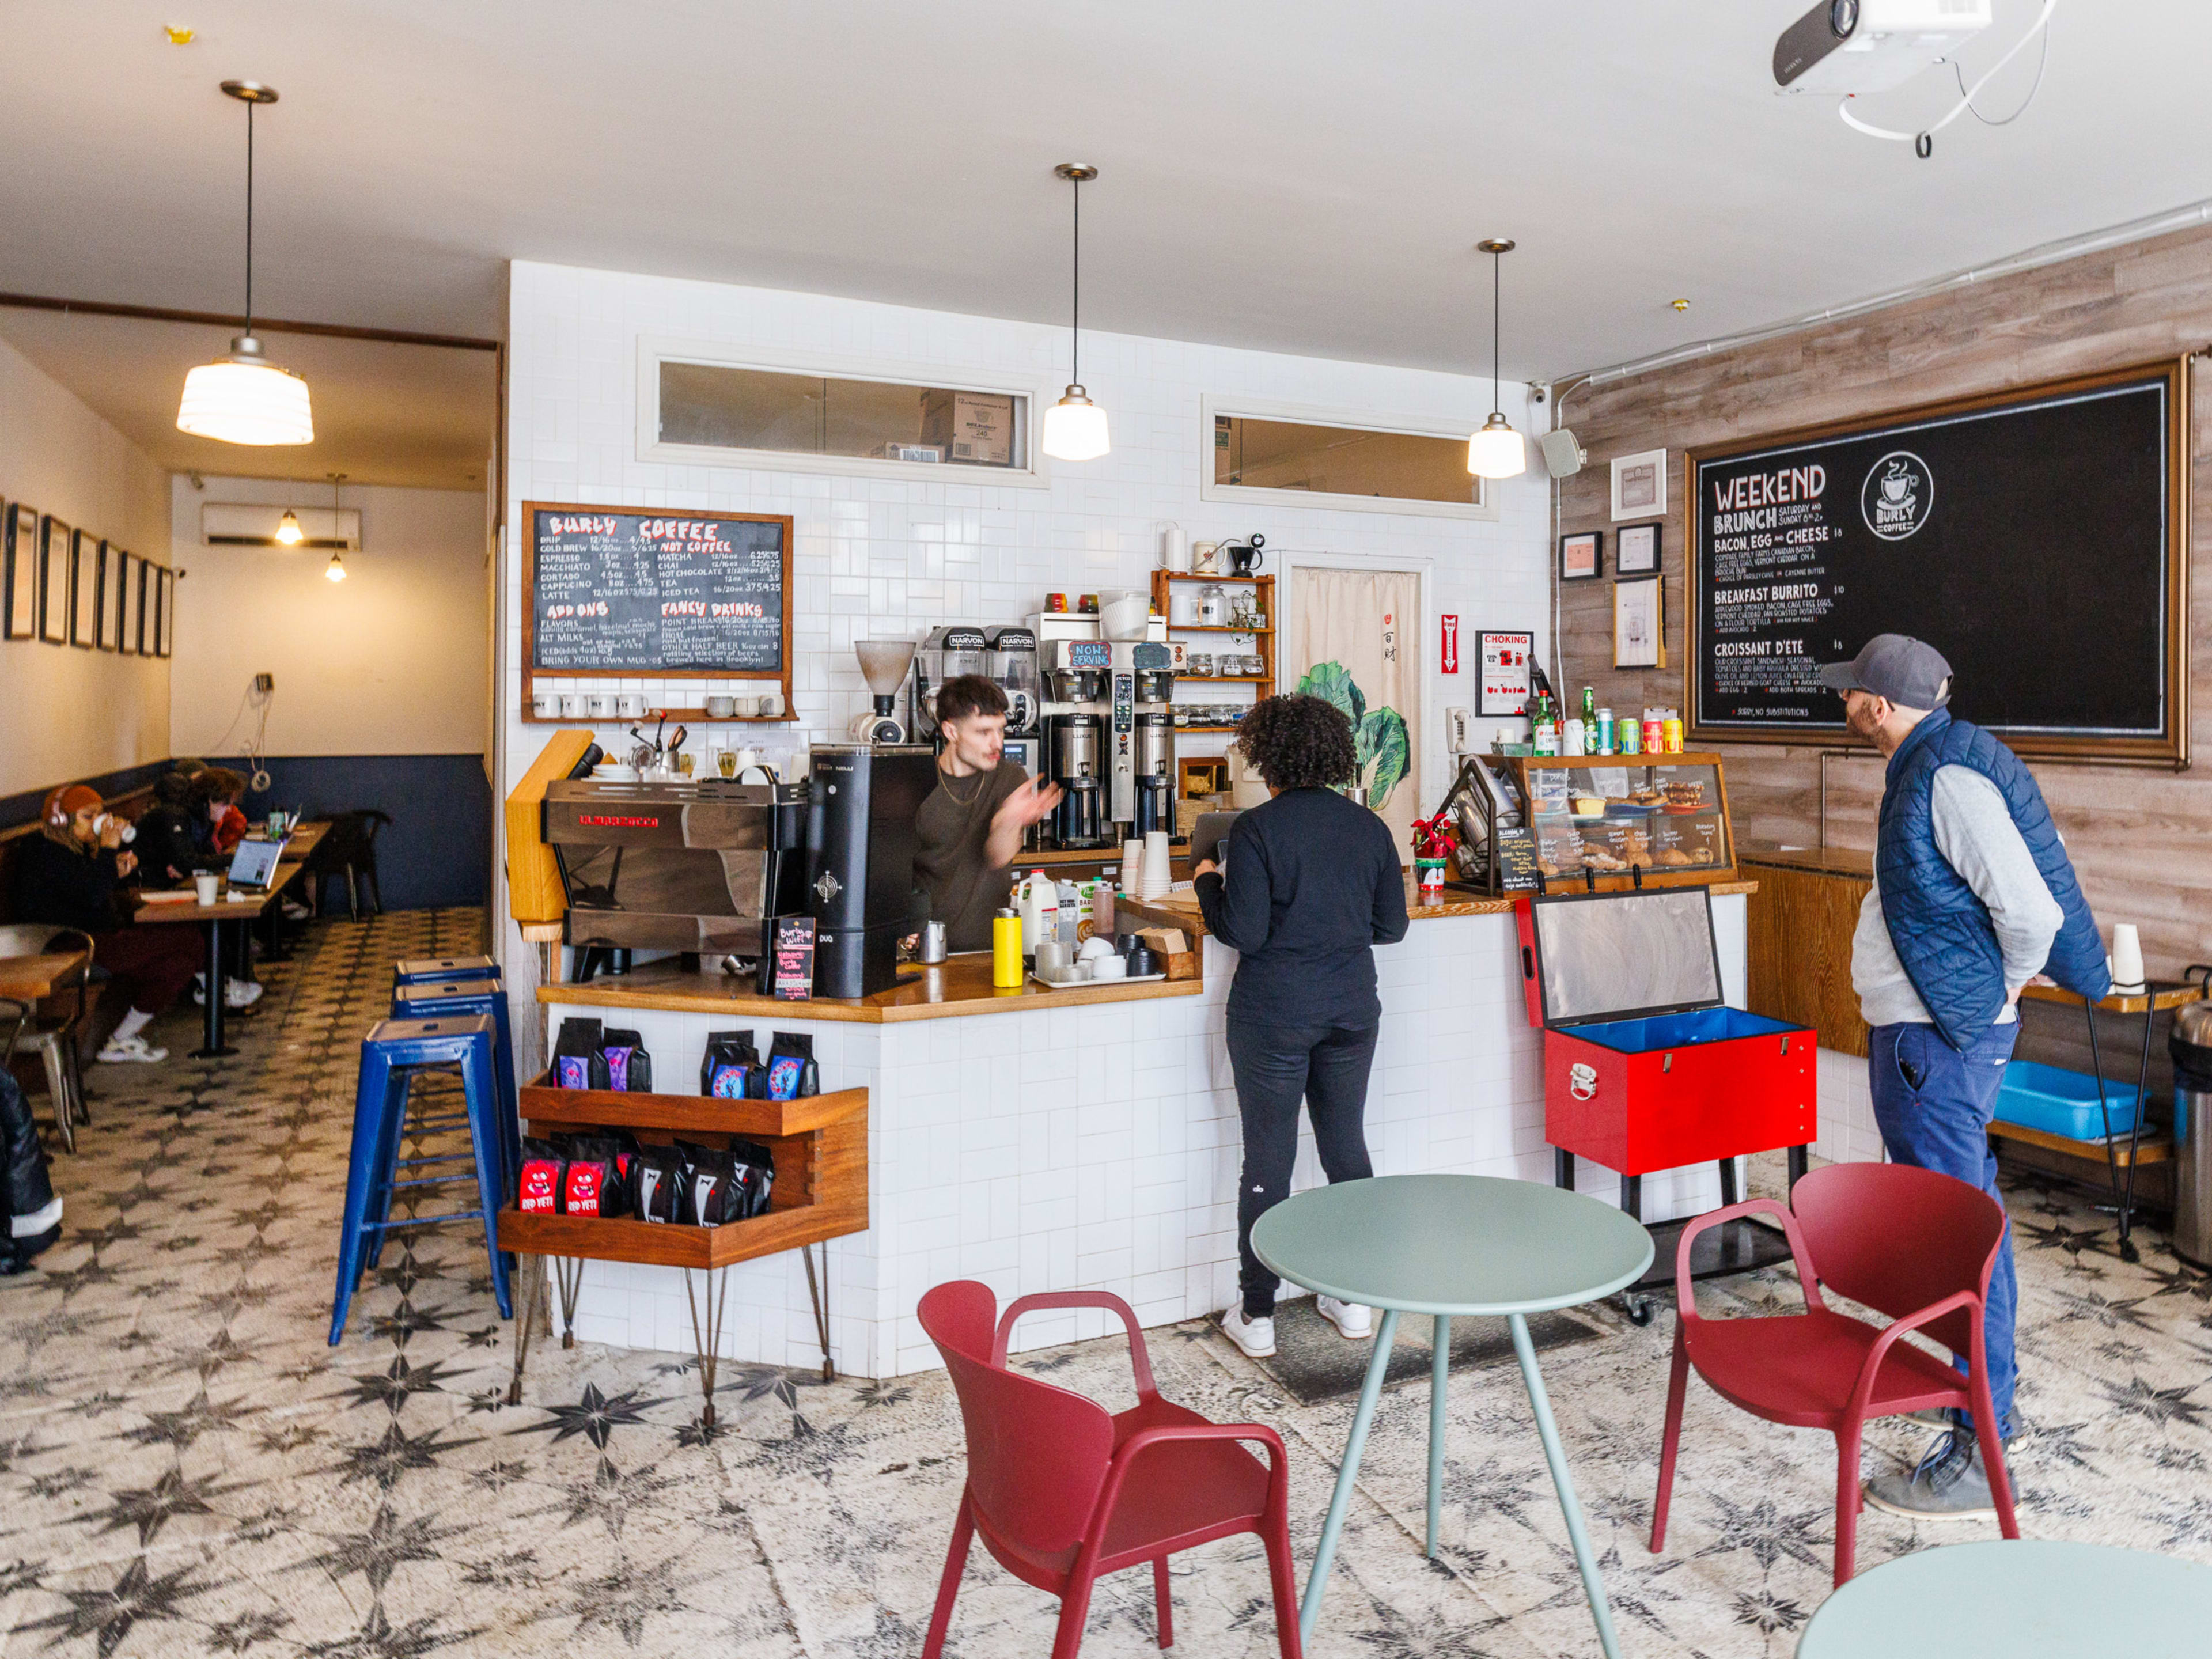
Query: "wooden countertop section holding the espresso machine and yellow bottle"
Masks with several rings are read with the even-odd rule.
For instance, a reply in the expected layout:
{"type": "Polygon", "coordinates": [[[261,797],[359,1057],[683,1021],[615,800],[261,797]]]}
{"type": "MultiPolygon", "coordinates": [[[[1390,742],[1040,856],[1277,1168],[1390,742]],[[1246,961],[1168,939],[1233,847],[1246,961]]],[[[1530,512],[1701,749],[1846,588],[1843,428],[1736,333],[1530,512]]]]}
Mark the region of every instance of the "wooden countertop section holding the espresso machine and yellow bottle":
{"type": "Polygon", "coordinates": [[[949,956],[936,967],[900,969],[898,987],[872,998],[805,998],[779,1002],[757,995],[752,980],[730,973],[684,973],[675,962],[648,962],[635,973],[599,975],[582,984],[542,984],[538,1000],[555,1006],[661,1009],[672,1013],[721,1013],[734,1020],[836,1020],[852,1024],[898,1024],[905,1020],[958,1020],[973,1013],[1031,1013],[1037,1009],[1082,1009],[1093,1002],[1148,1002],[1192,998],[1203,980],[1146,980],[1141,984],[1048,987],[1026,980],[1018,991],[991,984],[991,953],[949,956]]]}

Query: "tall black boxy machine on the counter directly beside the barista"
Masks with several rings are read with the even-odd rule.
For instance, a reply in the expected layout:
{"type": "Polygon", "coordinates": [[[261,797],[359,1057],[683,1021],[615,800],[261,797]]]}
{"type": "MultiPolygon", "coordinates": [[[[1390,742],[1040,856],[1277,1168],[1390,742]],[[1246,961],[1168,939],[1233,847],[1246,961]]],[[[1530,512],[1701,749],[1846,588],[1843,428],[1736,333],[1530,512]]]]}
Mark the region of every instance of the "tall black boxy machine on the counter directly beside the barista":
{"type": "Polygon", "coordinates": [[[929,920],[929,894],[914,878],[914,821],[938,787],[936,752],[816,743],[810,772],[805,900],[794,909],[814,916],[814,995],[889,991],[898,940],[929,920]]]}

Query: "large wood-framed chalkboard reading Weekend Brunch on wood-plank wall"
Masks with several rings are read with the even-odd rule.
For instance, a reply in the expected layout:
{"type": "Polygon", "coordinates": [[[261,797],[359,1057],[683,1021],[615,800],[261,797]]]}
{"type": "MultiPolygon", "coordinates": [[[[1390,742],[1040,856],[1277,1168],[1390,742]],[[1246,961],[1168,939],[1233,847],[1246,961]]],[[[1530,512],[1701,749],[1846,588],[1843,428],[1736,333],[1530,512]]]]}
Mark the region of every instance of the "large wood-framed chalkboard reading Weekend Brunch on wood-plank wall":
{"type": "Polygon", "coordinates": [[[1838,734],[1816,668],[1909,633],[2022,752],[2183,763],[2183,389],[2163,363],[1692,451],[1694,737],[1838,734]]]}

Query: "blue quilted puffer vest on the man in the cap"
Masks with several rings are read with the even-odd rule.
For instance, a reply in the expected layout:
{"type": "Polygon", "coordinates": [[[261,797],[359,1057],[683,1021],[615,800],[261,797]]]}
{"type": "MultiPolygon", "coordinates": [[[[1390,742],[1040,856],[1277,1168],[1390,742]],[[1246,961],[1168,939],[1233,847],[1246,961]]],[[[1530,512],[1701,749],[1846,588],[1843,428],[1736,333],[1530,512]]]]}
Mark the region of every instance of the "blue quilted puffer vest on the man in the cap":
{"type": "Polygon", "coordinates": [[[1929,792],[1936,772],[1947,765],[1973,768],[1997,785],[2044,885],[2066,914],[2044,973],[2090,1000],[2112,989],[2112,975],[2104,967],[2097,918],[2088,914],[2081,883],[2028,768],[1980,726],[1938,708],[1889,757],[1874,869],[1898,962],[1944,1042],[1964,1051],[2004,1009],[2004,956],[1989,909],[1936,847],[1929,792]]]}

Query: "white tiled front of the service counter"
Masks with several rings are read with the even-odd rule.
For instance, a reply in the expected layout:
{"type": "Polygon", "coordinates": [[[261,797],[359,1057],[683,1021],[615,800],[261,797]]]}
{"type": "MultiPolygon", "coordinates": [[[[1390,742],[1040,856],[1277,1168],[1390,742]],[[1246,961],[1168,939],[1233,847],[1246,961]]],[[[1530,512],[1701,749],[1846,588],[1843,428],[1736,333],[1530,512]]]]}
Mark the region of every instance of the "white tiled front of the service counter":
{"type": "MultiPolygon", "coordinates": [[[[1741,894],[1717,894],[1714,929],[1728,1002],[1743,1006],[1741,894]]],[[[544,987],[562,1015],[597,1015],[641,1033],[661,1088],[697,1077],[710,1031],[814,1037],[823,1088],[867,1088],[869,1230],[834,1239],[830,1340],[858,1376],[938,1365],[916,1303],[947,1279],[982,1279],[1000,1301],[1037,1290],[1110,1290],[1146,1325],[1228,1305],[1237,1287],[1237,1088],[1223,1002],[1237,953],[1203,940],[1203,980],[1175,995],[1066,1004],[1051,998],[951,1004],[933,1018],[810,1018],[816,1004],[648,995],[622,982],[544,987]],[[639,1006],[653,1002],[659,1006],[639,1006]],[[964,1011],[973,1006],[975,1011],[964,1011]],[[770,1011],[761,1011],[770,1009],[770,1011]]],[[[1551,1179],[1540,1033],[1528,1026],[1511,914],[1422,918],[1376,951],[1383,1040],[1367,1095],[1378,1175],[1460,1170],[1551,1179]]],[[[1130,991],[1139,987],[1128,987],[1130,991]]],[[[1170,989],[1170,987],[1161,987],[1170,989]]],[[[1582,1186],[1617,1194],[1582,1164],[1582,1186]]],[[[1301,1137],[1296,1186],[1321,1181],[1301,1137]]],[[[1648,1219],[1719,1203],[1712,1166],[1648,1175],[1648,1219]]],[[[723,1356],[818,1365],[796,1254],[730,1267],[723,1356]]],[[[690,1352],[684,1276],[672,1267],[586,1263],[577,1336],[617,1347],[690,1352]]],[[[1093,1312],[1022,1323],[1022,1347],[1099,1336],[1093,1312]]]]}

